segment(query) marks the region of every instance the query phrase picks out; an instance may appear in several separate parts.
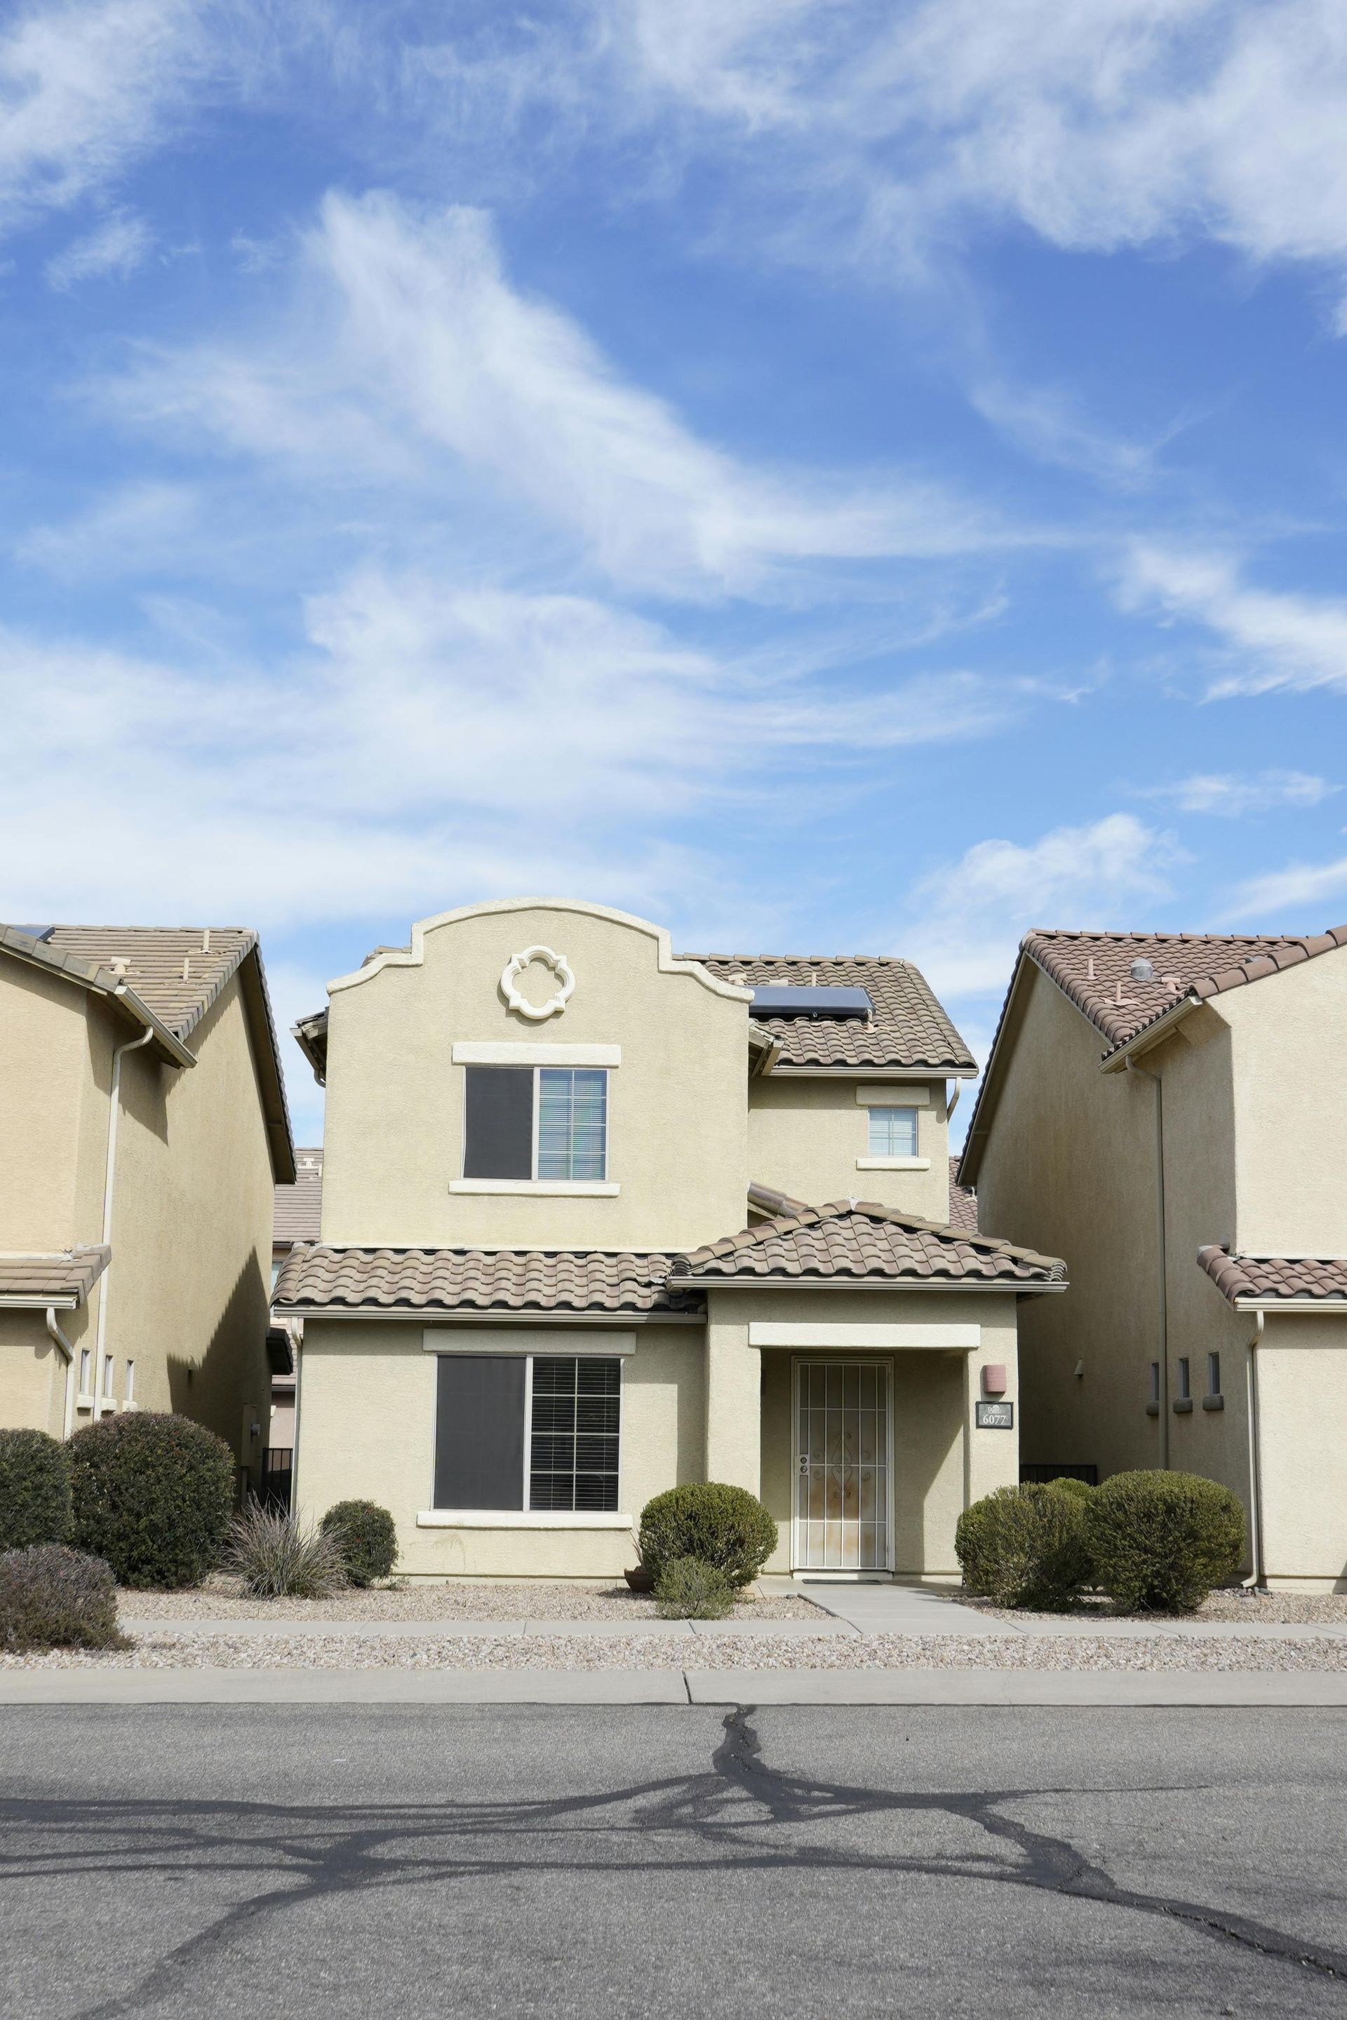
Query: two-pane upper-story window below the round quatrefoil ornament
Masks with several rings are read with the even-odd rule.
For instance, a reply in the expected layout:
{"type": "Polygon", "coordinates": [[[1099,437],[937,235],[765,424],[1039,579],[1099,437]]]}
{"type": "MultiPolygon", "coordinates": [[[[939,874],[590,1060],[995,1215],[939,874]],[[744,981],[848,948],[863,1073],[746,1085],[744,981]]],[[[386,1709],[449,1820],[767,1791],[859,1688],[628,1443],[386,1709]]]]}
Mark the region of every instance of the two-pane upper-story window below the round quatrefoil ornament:
{"type": "Polygon", "coordinates": [[[604,1067],[464,1067],[464,1178],[604,1182],[604,1067]]]}

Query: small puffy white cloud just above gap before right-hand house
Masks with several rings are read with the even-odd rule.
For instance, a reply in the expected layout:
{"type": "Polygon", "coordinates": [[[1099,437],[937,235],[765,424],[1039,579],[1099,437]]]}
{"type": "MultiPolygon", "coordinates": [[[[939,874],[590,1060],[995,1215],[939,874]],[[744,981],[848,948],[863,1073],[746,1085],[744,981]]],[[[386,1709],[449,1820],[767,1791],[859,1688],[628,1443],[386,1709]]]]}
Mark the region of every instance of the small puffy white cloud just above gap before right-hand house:
{"type": "Polygon", "coordinates": [[[951,1000],[1004,990],[1034,925],[1125,927],[1171,891],[1183,863],[1171,836],[1133,814],[1052,828],[1034,842],[986,840],[909,893],[903,953],[951,1000]]]}

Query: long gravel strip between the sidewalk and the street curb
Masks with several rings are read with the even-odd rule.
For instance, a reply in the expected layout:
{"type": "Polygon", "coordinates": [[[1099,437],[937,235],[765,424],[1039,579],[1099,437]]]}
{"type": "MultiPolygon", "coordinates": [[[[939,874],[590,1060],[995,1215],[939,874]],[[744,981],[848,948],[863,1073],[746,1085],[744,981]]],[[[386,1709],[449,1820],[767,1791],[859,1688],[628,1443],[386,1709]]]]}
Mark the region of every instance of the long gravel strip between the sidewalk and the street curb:
{"type": "Polygon", "coordinates": [[[733,1630],[689,1642],[642,1636],[248,1636],[143,1634],[121,1654],[57,1648],[0,1654],[14,1669],[1038,1669],[1038,1671],[1347,1671],[1347,1640],[1070,1640],[1014,1634],[870,1634],[804,1640],[733,1630]]]}

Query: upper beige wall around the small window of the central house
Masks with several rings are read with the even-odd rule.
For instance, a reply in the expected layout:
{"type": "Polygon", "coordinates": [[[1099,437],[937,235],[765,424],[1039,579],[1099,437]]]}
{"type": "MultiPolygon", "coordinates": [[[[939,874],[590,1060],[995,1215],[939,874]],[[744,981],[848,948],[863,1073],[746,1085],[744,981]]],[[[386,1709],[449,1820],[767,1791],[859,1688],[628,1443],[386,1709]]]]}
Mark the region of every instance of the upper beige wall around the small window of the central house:
{"type": "MultiPolygon", "coordinates": [[[[949,1216],[949,1129],[945,1125],[945,1083],[917,1083],[925,1103],[917,1105],[917,1155],[925,1172],[862,1172],[868,1157],[868,1121],[856,1101],[856,1079],[794,1079],[771,1073],[749,1081],[749,1172],[796,1200],[824,1206],[828,1200],[878,1200],[927,1220],[949,1216]]],[[[889,1083],[887,1095],[903,1085],[889,1083]]]]}

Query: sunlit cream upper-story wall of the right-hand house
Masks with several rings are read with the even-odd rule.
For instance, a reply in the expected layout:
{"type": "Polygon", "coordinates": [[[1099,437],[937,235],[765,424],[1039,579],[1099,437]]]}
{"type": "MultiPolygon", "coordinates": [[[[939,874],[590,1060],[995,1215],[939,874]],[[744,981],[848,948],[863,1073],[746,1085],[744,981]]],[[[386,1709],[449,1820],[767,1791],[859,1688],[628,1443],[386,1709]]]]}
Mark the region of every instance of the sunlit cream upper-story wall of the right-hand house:
{"type": "Polygon", "coordinates": [[[1236,1246],[1347,1254],[1347,947],[1214,1004],[1234,1048],[1236,1246]]]}

